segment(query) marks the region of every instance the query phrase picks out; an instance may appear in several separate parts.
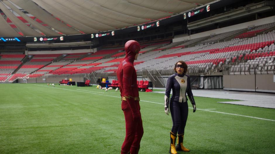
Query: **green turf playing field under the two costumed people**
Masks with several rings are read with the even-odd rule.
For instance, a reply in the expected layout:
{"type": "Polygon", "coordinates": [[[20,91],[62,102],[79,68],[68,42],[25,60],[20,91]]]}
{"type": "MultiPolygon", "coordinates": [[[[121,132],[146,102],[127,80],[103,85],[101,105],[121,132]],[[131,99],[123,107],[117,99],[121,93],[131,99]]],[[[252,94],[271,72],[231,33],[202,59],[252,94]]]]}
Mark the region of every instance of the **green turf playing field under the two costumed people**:
{"type": "MultiPolygon", "coordinates": [[[[140,99],[144,135],[139,153],[166,154],[172,120],[164,113],[164,94],[140,92],[140,99]]],[[[185,127],[184,145],[190,154],[275,153],[274,109],[217,103],[226,99],[195,101],[198,110],[189,109],[185,127]]],[[[1,154],[118,154],[124,136],[115,90],[0,84],[1,154]]]]}

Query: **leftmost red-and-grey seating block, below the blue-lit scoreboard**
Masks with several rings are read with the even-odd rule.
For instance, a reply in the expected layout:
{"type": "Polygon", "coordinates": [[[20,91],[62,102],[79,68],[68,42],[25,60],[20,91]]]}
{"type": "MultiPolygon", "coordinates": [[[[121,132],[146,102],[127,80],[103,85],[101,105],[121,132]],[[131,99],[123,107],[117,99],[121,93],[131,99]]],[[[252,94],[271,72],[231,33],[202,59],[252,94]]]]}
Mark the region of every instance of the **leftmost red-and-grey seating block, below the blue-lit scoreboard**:
{"type": "Polygon", "coordinates": [[[6,81],[11,74],[22,64],[21,60],[25,55],[23,52],[2,52],[0,53],[0,82],[6,81]]]}

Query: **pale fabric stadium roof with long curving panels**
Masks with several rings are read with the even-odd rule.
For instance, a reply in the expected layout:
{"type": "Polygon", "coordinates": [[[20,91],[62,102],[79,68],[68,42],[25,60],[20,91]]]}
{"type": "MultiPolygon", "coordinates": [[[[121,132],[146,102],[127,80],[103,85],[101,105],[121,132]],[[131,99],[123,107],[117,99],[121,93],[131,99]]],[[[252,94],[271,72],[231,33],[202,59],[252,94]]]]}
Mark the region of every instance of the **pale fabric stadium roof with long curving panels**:
{"type": "Polygon", "coordinates": [[[0,0],[0,36],[91,34],[159,20],[210,2],[214,1],[0,0]]]}

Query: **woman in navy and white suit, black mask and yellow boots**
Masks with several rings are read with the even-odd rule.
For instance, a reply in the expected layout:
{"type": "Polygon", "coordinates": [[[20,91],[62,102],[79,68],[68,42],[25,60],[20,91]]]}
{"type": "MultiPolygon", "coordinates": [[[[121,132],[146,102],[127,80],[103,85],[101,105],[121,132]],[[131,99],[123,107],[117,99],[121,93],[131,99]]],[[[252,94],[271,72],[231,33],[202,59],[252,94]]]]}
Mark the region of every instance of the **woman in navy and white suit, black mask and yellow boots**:
{"type": "Polygon", "coordinates": [[[190,151],[183,146],[184,128],[188,117],[188,99],[186,97],[186,94],[188,95],[193,106],[193,112],[196,111],[196,104],[190,86],[190,76],[186,74],[187,64],[183,61],[176,62],[174,71],[176,73],[169,76],[167,80],[166,92],[164,96],[165,113],[169,115],[169,112],[171,111],[171,116],[173,120],[173,127],[170,132],[171,143],[169,153],[171,154],[177,154],[177,151],[190,151]],[[173,92],[169,106],[171,89],[173,90],[173,92]],[[176,146],[175,144],[177,134],[178,145],[176,146]]]}

